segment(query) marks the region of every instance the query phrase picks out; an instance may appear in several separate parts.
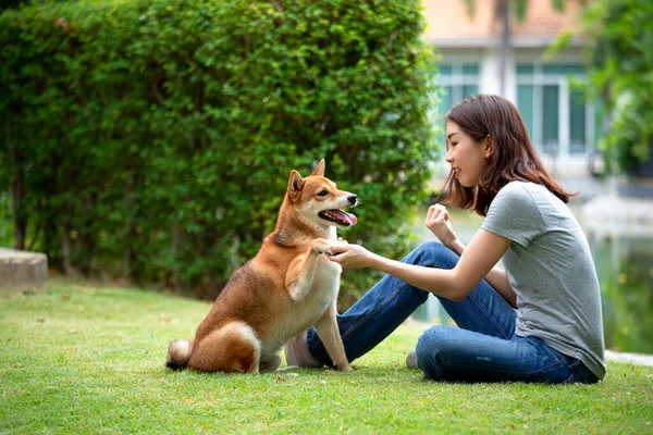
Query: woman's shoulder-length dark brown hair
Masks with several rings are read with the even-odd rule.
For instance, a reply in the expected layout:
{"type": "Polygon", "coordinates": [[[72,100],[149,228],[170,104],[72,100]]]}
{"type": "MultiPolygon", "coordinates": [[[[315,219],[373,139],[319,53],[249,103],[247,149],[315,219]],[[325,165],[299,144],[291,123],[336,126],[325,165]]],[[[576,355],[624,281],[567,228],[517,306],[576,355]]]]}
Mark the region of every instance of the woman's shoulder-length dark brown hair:
{"type": "Polygon", "coordinates": [[[549,175],[531,145],[519,111],[505,98],[483,94],[471,96],[454,105],[446,119],[458,124],[477,142],[489,136],[493,151],[480,185],[465,187],[453,172],[449,173],[442,202],[473,209],[485,216],[498,190],[515,181],[544,185],[565,203],[576,195],[563,189],[549,175]]]}

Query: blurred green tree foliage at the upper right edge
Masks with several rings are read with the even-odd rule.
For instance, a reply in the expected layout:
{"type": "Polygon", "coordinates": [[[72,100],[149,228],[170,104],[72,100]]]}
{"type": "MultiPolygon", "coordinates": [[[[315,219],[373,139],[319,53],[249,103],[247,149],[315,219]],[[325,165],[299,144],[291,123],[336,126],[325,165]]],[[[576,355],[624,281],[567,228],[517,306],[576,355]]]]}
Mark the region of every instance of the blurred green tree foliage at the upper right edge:
{"type": "Polygon", "coordinates": [[[653,2],[594,0],[582,13],[590,44],[590,88],[612,112],[602,148],[631,171],[653,145],[653,2]]]}

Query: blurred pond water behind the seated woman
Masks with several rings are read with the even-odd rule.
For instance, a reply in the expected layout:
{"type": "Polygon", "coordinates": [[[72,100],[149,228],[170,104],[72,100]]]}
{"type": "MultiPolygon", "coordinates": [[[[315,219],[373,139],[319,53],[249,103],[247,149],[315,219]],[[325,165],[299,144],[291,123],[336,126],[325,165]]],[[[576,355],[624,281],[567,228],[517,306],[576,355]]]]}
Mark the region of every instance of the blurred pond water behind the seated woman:
{"type": "MultiPolygon", "coordinates": [[[[628,236],[627,232],[594,234],[583,225],[580,208],[574,214],[586,234],[596,265],[603,304],[605,347],[621,352],[653,353],[653,228],[628,236]]],[[[468,244],[480,227],[482,217],[451,211],[458,238],[468,244]]],[[[420,215],[426,216],[426,211],[420,215]]],[[[416,223],[422,241],[436,240],[416,223]]],[[[421,306],[414,314],[420,322],[454,324],[436,298],[421,306]]]]}

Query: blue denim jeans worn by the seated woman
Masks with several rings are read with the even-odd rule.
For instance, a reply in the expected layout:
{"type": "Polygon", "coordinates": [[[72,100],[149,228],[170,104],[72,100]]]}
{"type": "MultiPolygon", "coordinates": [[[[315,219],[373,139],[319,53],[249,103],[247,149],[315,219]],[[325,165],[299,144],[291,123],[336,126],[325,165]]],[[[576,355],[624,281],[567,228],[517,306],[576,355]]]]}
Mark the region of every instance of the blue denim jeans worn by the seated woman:
{"type": "MultiPolygon", "coordinates": [[[[458,256],[438,243],[410,252],[405,263],[453,269],[458,256]]],[[[374,348],[397,328],[429,293],[385,275],[346,312],[337,316],[349,362],[374,348]]],[[[576,358],[565,356],[535,337],[515,334],[516,311],[485,281],[463,300],[438,297],[456,322],[433,326],[419,338],[417,364],[436,381],[595,383],[597,377],[576,358]]],[[[310,353],[333,365],[318,334],[307,335],[310,353]]]]}

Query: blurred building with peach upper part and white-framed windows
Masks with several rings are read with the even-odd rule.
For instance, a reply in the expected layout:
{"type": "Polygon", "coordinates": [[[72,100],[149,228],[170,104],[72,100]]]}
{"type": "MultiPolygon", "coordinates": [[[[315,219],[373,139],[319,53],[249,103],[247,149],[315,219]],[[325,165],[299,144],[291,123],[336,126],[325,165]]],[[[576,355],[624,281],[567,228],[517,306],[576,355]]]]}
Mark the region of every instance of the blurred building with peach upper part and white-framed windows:
{"type": "MultiPolygon", "coordinates": [[[[438,112],[445,113],[470,94],[498,94],[517,104],[544,163],[558,178],[596,189],[590,174],[601,123],[596,108],[570,85],[583,78],[581,38],[553,59],[544,53],[562,32],[576,32],[579,5],[566,1],[564,13],[552,0],[530,0],[523,21],[510,18],[502,91],[503,20],[497,0],[475,0],[470,15],[464,0],[424,0],[424,39],[439,49],[438,112]]],[[[576,187],[578,188],[578,187],[576,187]]]]}

